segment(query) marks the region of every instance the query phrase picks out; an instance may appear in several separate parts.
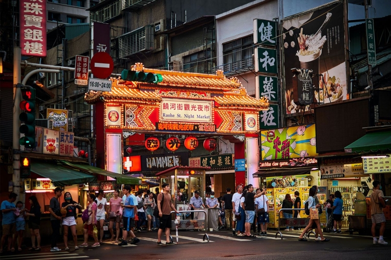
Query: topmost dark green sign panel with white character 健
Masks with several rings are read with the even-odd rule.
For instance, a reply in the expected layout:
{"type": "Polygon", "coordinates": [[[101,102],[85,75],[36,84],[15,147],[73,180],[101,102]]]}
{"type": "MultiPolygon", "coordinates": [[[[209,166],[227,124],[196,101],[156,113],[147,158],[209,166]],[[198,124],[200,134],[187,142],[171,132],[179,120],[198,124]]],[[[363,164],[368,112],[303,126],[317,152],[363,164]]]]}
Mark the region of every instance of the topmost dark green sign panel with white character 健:
{"type": "Polygon", "coordinates": [[[277,22],[254,19],[254,43],[276,46],[277,22]]]}

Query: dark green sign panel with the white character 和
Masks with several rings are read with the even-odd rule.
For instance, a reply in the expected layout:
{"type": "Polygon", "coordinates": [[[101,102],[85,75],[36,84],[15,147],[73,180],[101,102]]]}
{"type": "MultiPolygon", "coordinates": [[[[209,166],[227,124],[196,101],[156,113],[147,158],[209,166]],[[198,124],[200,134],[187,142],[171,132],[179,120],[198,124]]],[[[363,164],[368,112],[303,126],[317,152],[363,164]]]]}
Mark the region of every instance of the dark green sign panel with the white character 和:
{"type": "Polygon", "coordinates": [[[277,74],[277,50],[255,48],[255,72],[277,74]]]}

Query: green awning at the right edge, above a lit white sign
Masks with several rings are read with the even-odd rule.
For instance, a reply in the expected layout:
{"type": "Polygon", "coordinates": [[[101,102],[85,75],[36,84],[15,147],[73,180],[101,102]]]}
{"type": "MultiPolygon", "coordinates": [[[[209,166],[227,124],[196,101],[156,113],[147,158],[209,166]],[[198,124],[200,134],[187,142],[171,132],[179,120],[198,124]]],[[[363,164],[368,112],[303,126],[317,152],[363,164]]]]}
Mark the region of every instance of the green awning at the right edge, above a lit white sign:
{"type": "Polygon", "coordinates": [[[368,133],[345,147],[346,153],[369,153],[391,150],[391,131],[368,133]]]}

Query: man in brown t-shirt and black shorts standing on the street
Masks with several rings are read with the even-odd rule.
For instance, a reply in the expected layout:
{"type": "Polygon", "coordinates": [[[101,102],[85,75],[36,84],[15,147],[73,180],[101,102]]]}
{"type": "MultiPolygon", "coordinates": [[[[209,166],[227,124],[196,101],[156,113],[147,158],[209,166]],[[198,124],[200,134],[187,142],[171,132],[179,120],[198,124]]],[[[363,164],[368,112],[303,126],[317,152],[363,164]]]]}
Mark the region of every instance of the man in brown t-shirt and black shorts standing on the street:
{"type": "Polygon", "coordinates": [[[171,229],[171,209],[179,214],[175,209],[173,202],[171,201],[170,185],[164,183],[162,185],[163,192],[157,195],[157,209],[159,210],[160,226],[157,231],[157,244],[162,245],[161,236],[163,230],[166,233],[166,245],[172,245],[174,242],[170,241],[170,229],[171,229]]]}

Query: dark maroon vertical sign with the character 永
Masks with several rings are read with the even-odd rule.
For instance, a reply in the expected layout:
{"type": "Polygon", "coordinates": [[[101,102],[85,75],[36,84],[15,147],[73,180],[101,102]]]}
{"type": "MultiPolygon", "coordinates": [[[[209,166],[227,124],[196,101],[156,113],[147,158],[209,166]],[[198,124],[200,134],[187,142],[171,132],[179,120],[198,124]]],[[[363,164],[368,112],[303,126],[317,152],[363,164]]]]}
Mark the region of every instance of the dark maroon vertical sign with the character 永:
{"type": "Polygon", "coordinates": [[[92,53],[107,52],[110,54],[110,24],[94,21],[91,35],[92,53]]]}

